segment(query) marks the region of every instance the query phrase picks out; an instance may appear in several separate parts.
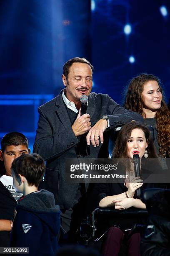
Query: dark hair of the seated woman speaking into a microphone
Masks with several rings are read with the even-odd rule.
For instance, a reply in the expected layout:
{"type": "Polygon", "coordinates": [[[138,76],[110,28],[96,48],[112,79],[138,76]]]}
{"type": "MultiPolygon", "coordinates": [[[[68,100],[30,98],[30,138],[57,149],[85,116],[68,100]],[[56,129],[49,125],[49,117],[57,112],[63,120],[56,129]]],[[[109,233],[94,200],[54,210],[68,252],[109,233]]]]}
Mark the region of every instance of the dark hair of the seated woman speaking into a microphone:
{"type": "Polygon", "coordinates": [[[120,158],[120,159],[129,158],[127,153],[127,142],[128,142],[128,139],[130,138],[132,131],[136,128],[141,129],[145,134],[145,138],[148,143],[147,151],[148,151],[149,158],[158,157],[155,151],[153,140],[150,136],[149,129],[147,128],[146,125],[135,121],[135,122],[125,124],[122,127],[122,129],[119,131],[119,134],[115,142],[115,147],[112,152],[112,158],[120,158]]]}

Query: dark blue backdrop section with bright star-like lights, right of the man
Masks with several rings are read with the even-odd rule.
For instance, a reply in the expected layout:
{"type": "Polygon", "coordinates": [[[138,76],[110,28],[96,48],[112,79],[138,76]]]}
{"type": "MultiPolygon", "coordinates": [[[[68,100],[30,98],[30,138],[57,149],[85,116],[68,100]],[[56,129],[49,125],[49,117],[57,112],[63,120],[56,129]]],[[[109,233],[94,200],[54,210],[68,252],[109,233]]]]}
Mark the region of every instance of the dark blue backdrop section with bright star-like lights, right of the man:
{"type": "Polygon", "coordinates": [[[146,72],[160,77],[168,100],[169,16],[170,1],[92,0],[94,90],[121,103],[127,82],[146,72]]]}

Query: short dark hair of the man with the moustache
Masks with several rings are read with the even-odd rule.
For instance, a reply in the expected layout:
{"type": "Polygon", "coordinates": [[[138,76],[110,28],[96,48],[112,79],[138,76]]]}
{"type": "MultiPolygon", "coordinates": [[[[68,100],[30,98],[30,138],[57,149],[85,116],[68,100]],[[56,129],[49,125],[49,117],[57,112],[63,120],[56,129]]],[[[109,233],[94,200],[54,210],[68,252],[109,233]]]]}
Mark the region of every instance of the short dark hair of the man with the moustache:
{"type": "Polygon", "coordinates": [[[88,64],[91,67],[92,71],[94,69],[92,64],[90,64],[90,62],[87,61],[87,59],[85,59],[85,58],[75,57],[75,58],[69,59],[67,62],[65,62],[63,69],[62,69],[62,74],[65,75],[66,79],[68,79],[68,73],[69,73],[69,69],[70,69],[71,65],[75,62],[88,64]]]}

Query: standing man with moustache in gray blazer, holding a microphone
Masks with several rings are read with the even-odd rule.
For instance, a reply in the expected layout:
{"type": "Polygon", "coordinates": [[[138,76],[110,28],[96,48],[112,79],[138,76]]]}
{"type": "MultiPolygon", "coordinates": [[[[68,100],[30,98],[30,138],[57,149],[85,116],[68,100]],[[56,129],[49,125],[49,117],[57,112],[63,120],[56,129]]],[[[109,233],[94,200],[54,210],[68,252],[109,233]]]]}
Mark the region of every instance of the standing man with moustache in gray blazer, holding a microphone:
{"type": "Polygon", "coordinates": [[[92,70],[84,58],[67,61],[62,74],[65,89],[38,108],[40,118],[33,152],[46,161],[45,188],[55,195],[63,212],[85,194],[79,184],[67,184],[65,160],[107,157],[109,132],[131,120],[143,120],[139,114],[121,108],[108,95],[90,93],[92,70]],[[87,113],[82,116],[81,95],[88,96],[87,113]]]}

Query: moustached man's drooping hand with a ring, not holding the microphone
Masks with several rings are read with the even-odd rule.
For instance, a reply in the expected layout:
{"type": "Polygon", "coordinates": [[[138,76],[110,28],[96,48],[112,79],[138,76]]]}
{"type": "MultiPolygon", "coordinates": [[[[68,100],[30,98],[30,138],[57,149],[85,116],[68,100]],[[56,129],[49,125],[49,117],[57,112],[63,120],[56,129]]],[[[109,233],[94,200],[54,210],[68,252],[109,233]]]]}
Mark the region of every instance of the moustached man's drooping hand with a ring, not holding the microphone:
{"type": "Polygon", "coordinates": [[[103,143],[103,132],[107,128],[107,121],[105,119],[100,119],[97,123],[90,129],[86,136],[87,145],[90,145],[90,141],[93,147],[99,146],[100,142],[103,143]]]}

